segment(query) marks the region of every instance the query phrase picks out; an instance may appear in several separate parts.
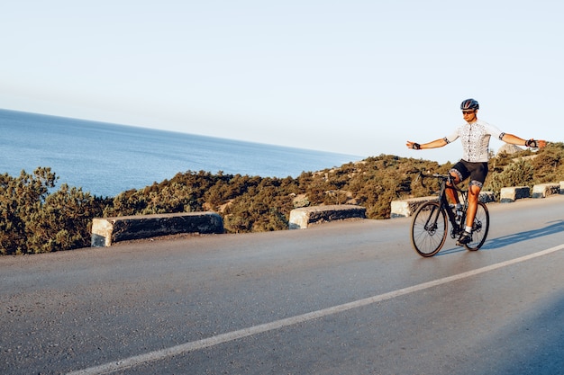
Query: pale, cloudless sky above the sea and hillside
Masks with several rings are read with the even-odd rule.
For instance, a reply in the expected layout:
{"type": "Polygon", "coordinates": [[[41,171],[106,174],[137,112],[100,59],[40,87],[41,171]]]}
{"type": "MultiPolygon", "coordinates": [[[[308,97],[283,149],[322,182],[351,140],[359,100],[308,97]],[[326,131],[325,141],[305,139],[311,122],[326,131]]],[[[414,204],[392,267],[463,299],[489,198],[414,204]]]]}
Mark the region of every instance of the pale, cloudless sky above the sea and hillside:
{"type": "Polygon", "coordinates": [[[449,135],[469,97],[502,131],[562,141],[563,16],[561,0],[5,1],[0,108],[455,162],[459,141],[405,141],[449,135]]]}

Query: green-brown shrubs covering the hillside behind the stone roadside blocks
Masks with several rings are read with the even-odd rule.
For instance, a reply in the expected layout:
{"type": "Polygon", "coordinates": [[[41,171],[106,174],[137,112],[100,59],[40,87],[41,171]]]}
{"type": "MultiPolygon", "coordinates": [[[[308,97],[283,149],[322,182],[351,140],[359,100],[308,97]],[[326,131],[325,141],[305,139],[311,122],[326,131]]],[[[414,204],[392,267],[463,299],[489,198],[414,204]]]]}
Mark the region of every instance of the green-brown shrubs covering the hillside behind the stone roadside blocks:
{"type": "MultiPolygon", "coordinates": [[[[420,154],[423,156],[423,154],[420,154]]],[[[310,205],[358,204],[368,219],[390,217],[390,202],[429,195],[414,170],[446,174],[452,165],[380,155],[297,178],[209,172],[179,173],[170,180],[117,196],[97,197],[62,184],[49,167],[32,174],[0,175],[0,254],[31,254],[90,246],[92,219],[164,212],[214,210],[229,233],[288,228],[290,211],[310,205]]],[[[484,190],[564,181],[564,144],[532,153],[493,157],[484,190]],[[531,157],[527,157],[531,156],[531,157]]]]}

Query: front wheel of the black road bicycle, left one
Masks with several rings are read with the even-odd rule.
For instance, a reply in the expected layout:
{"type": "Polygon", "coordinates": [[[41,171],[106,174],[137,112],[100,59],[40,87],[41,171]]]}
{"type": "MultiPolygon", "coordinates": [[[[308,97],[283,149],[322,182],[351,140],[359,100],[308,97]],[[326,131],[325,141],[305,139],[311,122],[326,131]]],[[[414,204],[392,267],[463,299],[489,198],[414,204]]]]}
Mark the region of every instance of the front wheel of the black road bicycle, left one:
{"type": "Polygon", "coordinates": [[[447,239],[446,212],[441,203],[428,201],[414,213],[411,225],[411,243],[417,254],[429,257],[439,253],[447,239]]]}

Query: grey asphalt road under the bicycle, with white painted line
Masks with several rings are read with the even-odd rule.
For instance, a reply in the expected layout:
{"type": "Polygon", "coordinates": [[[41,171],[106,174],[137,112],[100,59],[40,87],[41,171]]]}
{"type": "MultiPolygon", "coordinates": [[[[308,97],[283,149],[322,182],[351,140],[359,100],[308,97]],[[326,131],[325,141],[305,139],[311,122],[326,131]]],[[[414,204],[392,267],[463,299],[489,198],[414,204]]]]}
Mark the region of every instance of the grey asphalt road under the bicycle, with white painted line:
{"type": "Polygon", "coordinates": [[[564,195],[410,219],[0,257],[3,374],[563,374],[564,195]]]}

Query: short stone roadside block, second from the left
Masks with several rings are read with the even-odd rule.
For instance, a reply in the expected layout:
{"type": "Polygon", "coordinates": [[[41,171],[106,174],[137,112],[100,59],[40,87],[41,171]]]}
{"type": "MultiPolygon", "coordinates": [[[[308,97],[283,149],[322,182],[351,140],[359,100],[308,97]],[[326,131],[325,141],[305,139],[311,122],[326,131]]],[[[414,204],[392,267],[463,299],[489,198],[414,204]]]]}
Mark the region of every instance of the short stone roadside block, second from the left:
{"type": "Polygon", "coordinates": [[[366,219],[366,208],[353,204],[302,207],[290,211],[289,228],[304,229],[333,220],[366,219]]]}

